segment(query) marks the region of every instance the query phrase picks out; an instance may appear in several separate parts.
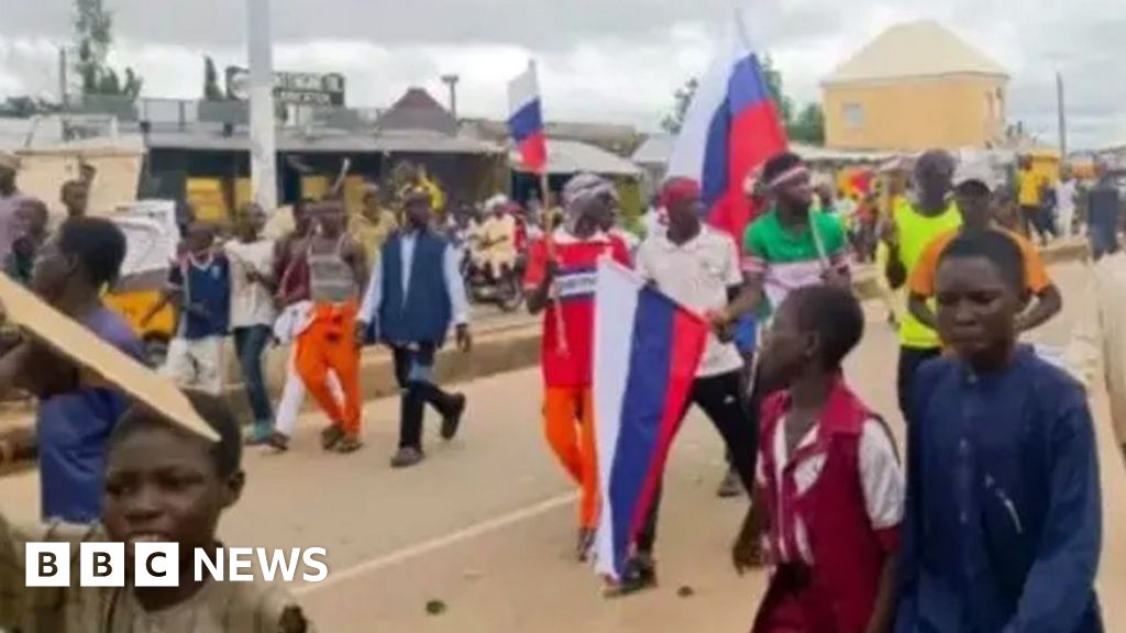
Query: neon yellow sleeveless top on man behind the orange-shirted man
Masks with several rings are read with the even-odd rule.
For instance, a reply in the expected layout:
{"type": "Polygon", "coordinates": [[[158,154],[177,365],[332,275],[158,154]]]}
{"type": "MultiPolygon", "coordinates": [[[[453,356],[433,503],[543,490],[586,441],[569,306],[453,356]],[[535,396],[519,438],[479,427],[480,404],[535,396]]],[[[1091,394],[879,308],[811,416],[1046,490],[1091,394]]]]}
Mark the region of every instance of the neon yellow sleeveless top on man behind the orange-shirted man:
{"type": "MultiPolygon", "coordinates": [[[[906,269],[908,279],[914,275],[923,251],[935,238],[962,226],[962,213],[953,203],[942,213],[927,216],[904,200],[895,206],[893,217],[900,237],[900,262],[906,269]]],[[[940,347],[938,332],[922,324],[910,311],[904,311],[900,321],[900,345],[912,349],[940,347]]]]}

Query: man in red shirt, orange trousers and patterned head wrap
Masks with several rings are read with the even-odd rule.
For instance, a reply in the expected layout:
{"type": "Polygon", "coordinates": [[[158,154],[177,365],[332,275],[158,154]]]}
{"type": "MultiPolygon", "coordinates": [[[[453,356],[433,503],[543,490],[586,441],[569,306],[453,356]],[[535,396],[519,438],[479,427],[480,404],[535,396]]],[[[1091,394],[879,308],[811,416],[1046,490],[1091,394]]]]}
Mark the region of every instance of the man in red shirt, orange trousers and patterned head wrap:
{"type": "Polygon", "coordinates": [[[629,253],[620,240],[599,229],[614,204],[614,186],[598,176],[573,177],[563,188],[564,225],[528,252],[525,293],[528,311],[544,313],[544,428],[547,443],[581,489],[577,555],[593,542],[598,511],[591,401],[595,276],[604,255],[623,265],[629,253]]]}

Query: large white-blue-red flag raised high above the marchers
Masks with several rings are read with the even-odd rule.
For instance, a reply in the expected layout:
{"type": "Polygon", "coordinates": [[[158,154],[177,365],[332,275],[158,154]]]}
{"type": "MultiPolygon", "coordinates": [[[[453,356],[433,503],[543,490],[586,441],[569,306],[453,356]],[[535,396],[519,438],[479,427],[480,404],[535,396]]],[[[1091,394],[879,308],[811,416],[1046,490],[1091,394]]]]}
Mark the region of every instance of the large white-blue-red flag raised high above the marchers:
{"type": "Polygon", "coordinates": [[[762,64],[736,14],[725,44],[696,88],[672,146],[668,173],[700,184],[709,224],[741,243],[753,209],[743,191],[751,171],[787,148],[762,64]]]}

